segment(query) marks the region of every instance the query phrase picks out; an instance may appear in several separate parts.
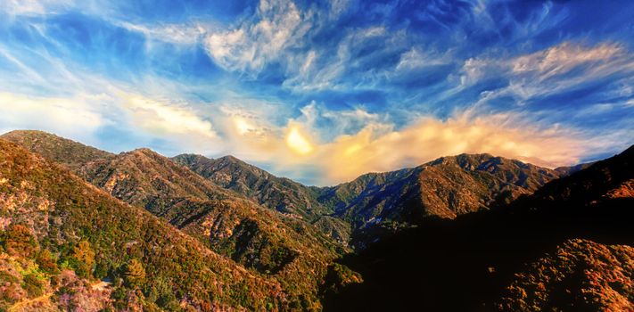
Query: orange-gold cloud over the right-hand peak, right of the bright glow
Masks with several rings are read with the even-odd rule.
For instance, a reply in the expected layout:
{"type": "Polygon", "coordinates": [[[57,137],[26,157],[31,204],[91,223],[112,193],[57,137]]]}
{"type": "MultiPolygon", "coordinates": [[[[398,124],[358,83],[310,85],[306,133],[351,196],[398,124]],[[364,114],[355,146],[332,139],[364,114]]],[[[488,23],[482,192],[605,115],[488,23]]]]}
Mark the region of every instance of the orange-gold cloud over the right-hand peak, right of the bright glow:
{"type": "Polygon", "coordinates": [[[424,117],[389,132],[370,124],[355,135],[319,146],[315,160],[324,167],[324,182],[333,184],[364,172],[417,166],[463,152],[488,152],[547,167],[577,163],[588,152],[588,142],[571,131],[517,122],[516,116],[506,114],[463,113],[447,120],[424,117]]]}

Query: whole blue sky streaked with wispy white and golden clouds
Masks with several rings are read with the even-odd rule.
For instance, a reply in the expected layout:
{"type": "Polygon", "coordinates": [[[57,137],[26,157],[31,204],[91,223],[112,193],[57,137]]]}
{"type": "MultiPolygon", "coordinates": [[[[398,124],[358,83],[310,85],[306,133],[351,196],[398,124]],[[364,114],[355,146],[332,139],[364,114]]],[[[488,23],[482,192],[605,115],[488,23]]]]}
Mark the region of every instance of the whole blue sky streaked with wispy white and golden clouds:
{"type": "Polygon", "coordinates": [[[634,144],[632,1],[0,0],[0,133],[335,185],[634,144]]]}

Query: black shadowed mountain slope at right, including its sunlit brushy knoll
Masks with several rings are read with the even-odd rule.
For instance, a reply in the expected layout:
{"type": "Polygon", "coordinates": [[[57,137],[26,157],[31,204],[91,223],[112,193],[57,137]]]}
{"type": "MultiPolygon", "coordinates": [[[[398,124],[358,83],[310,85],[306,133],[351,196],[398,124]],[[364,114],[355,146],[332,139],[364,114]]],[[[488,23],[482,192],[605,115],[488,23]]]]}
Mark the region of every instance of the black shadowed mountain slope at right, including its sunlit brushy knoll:
{"type": "Polygon", "coordinates": [[[634,308],[633,150],[509,204],[383,237],[342,259],[364,283],[331,294],[325,309],[634,308]]]}

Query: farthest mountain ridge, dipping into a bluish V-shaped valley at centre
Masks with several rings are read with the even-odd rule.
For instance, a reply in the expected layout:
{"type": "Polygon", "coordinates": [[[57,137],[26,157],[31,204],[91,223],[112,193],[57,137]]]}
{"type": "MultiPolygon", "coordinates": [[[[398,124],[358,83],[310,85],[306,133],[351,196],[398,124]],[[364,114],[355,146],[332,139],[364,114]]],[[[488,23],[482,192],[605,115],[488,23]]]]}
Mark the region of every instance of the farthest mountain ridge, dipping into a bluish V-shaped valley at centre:
{"type": "Polygon", "coordinates": [[[489,154],[462,154],[317,188],[275,177],[232,156],[212,160],[182,154],[173,160],[216,185],[312,221],[340,242],[356,236],[356,247],[383,235],[375,232],[384,232],[385,227],[394,231],[426,217],[456,218],[490,209],[572,171],[539,168],[489,154]],[[366,227],[372,234],[367,234],[366,227]]]}

